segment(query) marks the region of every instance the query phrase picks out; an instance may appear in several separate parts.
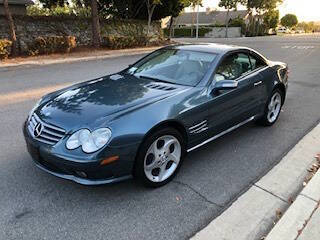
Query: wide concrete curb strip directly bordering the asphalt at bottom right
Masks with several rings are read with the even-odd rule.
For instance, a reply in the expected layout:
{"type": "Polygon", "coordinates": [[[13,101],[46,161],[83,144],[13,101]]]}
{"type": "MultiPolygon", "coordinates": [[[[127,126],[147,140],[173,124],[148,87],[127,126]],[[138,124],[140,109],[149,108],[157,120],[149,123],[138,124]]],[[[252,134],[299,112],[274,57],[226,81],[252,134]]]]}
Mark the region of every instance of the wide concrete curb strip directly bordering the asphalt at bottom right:
{"type": "MultiPolygon", "coordinates": [[[[253,184],[226,211],[192,237],[192,240],[263,239],[274,227],[279,215],[290,206],[303,188],[307,169],[314,163],[314,156],[320,150],[319,136],[320,124],[304,136],[260,181],[253,184]]],[[[304,190],[309,189],[309,192],[303,191],[301,194],[320,194],[310,188],[304,190]]],[[[319,189],[318,191],[320,192],[319,189]]],[[[297,204],[299,201],[298,198],[297,204]]],[[[313,209],[311,205],[310,210],[313,209]]],[[[268,240],[274,239],[285,240],[281,237],[268,240]]]]}

